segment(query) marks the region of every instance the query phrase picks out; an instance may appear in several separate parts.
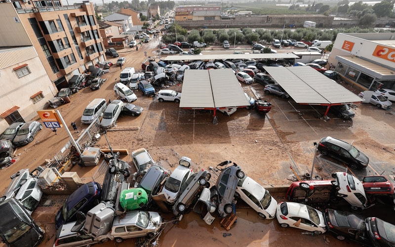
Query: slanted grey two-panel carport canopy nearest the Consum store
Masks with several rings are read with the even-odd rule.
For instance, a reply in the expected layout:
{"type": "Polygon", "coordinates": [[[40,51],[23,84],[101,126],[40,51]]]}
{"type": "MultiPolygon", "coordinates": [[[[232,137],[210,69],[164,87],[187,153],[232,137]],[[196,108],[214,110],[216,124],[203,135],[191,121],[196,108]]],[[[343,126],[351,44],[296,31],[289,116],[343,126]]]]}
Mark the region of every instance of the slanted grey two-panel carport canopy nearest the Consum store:
{"type": "Polygon", "coordinates": [[[363,101],[310,66],[266,66],[264,69],[299,104],[339,105],[363,101]]]}

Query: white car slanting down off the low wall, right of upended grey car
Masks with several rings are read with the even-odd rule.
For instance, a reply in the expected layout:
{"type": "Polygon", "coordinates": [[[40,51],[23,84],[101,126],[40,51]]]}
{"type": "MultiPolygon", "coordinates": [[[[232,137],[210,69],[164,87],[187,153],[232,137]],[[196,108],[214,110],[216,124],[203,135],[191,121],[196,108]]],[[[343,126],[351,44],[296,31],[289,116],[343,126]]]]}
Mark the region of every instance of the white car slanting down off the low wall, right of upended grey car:
{"type": "Polygon", "coordinates": [[[276,215],[277,201],[260,184],[244,176],[237,183],[235,196],[240,197],[264,219],[273,219],[276,215]],[[237,194],[236,194],[237,193],[237,194]]]}

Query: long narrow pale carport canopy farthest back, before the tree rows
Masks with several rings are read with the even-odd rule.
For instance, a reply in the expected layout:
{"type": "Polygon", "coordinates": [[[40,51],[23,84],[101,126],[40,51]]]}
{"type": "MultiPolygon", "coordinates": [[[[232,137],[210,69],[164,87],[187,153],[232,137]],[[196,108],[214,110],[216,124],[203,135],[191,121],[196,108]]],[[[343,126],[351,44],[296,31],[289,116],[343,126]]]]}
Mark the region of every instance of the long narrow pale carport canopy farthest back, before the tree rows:
{"type": "Polygon", "coordinates": [[[215,59],[285,59],[299,58],[293,53],[253,53],[253,54],[211,54],[211,55],[170,55],[163,61],[191,61],[191,60],[215,60],[215,59]]]}

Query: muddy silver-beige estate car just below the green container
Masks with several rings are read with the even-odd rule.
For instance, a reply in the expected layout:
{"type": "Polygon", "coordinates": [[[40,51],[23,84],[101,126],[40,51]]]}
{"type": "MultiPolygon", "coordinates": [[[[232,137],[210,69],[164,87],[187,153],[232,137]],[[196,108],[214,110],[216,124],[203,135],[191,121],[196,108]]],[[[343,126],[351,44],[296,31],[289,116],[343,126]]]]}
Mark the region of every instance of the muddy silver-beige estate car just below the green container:
{"type": "Polygon", "coordinates": [[[121,243],[124,239],[145,237],[153,238],[159,231],[162,218],[158,212],[127,211],[114,218],[110,239],[121,243]]]}

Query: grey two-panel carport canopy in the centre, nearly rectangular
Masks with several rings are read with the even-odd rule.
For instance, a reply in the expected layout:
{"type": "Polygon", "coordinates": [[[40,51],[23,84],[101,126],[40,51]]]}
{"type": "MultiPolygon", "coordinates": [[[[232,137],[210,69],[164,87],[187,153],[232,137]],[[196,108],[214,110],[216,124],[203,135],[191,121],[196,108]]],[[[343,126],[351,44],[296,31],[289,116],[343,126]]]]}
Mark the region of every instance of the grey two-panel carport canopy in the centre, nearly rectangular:
{"type": "Polygon", "coordinates": [[[232,69],[185,71],[180,108],[223,109],[249,105],[232,69]]]}

